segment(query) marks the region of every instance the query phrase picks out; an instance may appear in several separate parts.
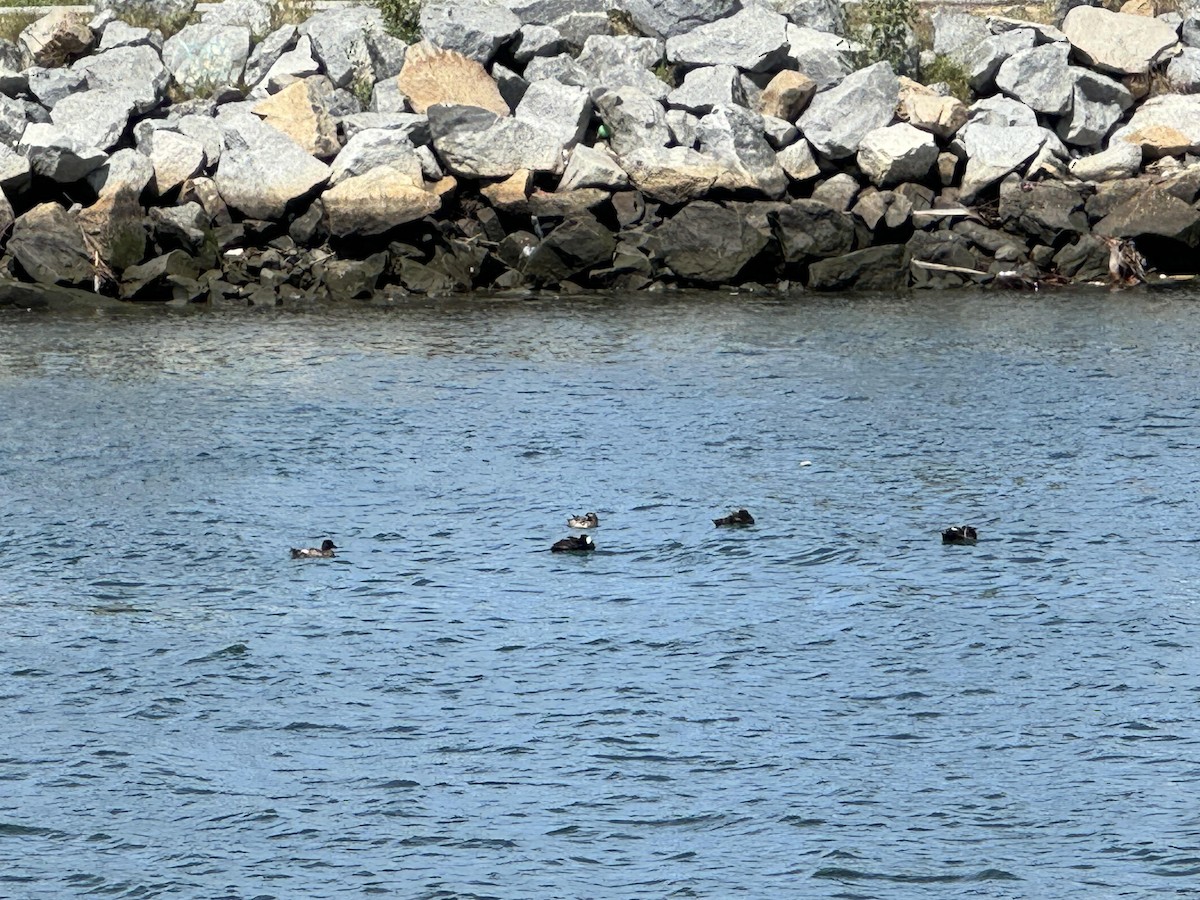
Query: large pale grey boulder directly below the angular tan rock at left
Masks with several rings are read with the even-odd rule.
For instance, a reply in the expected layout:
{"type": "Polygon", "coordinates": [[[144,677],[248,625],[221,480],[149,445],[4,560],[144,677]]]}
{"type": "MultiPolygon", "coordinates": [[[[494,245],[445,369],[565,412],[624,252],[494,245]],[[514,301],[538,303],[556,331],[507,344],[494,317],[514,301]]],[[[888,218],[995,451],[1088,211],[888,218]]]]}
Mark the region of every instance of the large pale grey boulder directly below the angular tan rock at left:
{"type": "Polygon", "coordinates": [[[257,116],[232,113],[217,122],[226,148],[214,181],[222,199],[244,215],[277,218],[328,181],[325,163],[257,116]]]}

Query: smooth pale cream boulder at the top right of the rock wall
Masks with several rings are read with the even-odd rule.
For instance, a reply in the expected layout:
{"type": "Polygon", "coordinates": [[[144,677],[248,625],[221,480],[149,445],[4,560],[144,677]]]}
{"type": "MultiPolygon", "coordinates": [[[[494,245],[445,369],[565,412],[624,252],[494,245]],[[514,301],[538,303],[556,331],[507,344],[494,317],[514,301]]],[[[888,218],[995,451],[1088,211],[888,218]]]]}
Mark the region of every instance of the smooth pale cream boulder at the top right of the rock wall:
{"type": "Polygon", "coordinates": [[[1178,43],[1175,28],[1146,16],[1076,6],[1063,19],[1076,58],[1115,74],[1139,74],[1166,58],[1178,43]]]}

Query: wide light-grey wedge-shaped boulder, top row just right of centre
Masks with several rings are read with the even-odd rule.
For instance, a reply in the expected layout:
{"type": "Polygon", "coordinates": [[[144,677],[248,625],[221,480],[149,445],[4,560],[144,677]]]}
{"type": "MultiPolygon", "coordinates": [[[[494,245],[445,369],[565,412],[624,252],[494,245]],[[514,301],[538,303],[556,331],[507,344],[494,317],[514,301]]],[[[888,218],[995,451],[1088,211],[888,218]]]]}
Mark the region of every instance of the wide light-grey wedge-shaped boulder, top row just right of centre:
{"type": "Polygon", "coordinates": [[[787,19],[762,6],[667,38],[667,61],[683,66],[737,66],[769,72],[787,59],[787,19]]]}

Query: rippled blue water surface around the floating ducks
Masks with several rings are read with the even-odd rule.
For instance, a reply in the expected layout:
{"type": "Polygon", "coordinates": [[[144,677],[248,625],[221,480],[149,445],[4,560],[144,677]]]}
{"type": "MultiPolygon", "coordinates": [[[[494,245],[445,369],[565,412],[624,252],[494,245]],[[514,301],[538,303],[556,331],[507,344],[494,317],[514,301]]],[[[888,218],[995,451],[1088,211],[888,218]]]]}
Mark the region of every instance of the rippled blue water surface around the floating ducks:
{"type": "Polygon", "coordinates": [[[1198,376],[1177,294],[0,313],[0,896],[1195,895],[1198,376]]]}

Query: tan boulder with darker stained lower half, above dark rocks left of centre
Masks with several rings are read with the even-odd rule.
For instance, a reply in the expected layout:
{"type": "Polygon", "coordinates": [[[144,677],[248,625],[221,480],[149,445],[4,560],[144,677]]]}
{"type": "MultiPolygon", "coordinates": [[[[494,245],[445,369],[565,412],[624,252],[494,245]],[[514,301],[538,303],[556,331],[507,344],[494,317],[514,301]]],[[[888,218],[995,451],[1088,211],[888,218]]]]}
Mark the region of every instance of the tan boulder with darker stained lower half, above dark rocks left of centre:
{"type": "Polygon", "coordinates": [[[330,234],[383,234],[442,208],[442,198],[390,166],[340,181],[322,194],[330,234]]]}

